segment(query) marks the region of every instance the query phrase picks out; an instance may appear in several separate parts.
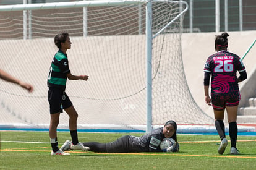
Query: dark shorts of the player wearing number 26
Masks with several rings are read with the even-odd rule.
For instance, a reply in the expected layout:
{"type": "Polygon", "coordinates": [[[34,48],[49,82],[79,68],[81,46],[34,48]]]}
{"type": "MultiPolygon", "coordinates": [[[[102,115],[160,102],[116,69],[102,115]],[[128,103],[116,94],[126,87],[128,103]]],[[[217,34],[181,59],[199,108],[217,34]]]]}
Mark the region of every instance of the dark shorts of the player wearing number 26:
{"type": "Polygon", "coordinates": [[[211,94],[211,104],[213,109],[223,110],[226,106],[237,106],[240,101],[240,93],[227,93],[227,94],[211,94]]]}

